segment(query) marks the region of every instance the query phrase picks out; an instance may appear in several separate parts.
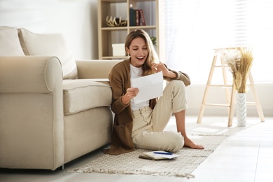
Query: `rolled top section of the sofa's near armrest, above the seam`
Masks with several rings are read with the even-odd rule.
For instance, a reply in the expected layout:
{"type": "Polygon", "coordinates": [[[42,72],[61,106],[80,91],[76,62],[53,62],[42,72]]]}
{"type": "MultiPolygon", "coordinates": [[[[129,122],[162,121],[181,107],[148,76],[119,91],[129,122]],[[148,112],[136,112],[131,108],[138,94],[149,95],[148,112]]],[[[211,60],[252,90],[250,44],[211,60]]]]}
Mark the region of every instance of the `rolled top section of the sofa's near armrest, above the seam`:
{"type": "Polygon", "coordinates": [[[62,66],[57,57],[0,57],[0,92],[52,92],[62,85],[62,66]]]}

